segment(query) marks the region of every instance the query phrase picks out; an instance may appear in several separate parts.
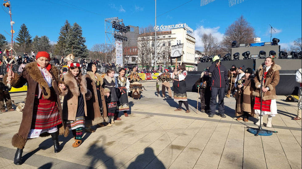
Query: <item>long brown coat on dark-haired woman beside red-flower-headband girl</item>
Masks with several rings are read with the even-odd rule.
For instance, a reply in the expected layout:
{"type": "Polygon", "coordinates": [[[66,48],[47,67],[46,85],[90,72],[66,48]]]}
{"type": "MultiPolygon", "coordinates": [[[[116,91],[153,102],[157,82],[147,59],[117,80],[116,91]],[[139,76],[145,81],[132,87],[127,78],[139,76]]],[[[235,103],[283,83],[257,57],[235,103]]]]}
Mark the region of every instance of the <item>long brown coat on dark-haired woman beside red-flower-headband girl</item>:
{"type": "MultiPolygon", "coordinates": [[[[92,71],[87,71],[85,75],[87,81],[87,89],[91,91],[92,98],[86,101],[87,104],[87,117],[85,117],[85,124],[87,126],[92,126],[99,124],[101,122],[105,122],[108,120],[107,117],[107,108],[106,108],[106,101],[104,98],[104,88],[102,87],[104,80],[100,74],[96,73],[96,77],[100,81],[100,94],[101,94],[101,102],[103,105],[103,117],[100,112],[99,107],[99,98],[97,97],[96,93],[96,78],[92,71]]],[[[106,90],[106,93],[110,92],[109,89],[106,90]]],[[[106,96],[107,97],[107,96],[106,96]]]]}

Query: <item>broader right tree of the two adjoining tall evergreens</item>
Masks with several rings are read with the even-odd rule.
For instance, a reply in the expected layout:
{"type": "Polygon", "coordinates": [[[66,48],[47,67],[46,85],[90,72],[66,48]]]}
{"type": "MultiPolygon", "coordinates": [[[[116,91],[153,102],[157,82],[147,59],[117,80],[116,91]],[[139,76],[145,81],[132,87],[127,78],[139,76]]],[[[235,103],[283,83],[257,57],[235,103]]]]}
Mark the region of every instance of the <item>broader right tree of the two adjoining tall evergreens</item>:
{"type": "Polygon", "coordinates": [[[87,57],[88,49],[84,44],[86,39],[82,36],[82,28],[74,23],[67,37],[66,53],[73,53],[75,57],[87,57]]]}

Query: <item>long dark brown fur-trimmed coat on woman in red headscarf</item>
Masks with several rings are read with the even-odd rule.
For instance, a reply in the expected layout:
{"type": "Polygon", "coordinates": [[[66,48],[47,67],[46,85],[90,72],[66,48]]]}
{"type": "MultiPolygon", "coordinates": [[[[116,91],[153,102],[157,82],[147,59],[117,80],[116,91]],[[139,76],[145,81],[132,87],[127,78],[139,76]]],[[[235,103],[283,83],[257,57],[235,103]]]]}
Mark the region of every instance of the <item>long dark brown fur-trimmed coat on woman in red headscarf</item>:
{"type": "MultiPolygon", "coordinates": [[[[61,91],[59,89],[59,84],[65,84],[63,81],[59,80],[59,70],[55,66],[51,66],[49,73],[52,76],[52,87],[55,90],[55,95],[50,95],[51,91],[48,87],[47,82],[42,76],[39,67],[37,66],[37,62],[31,62],[26,64],[22,73],[20,75],[15,73],[15,77],[11,79],[10,85],[14,88],[20,88],[25,83],[27,83],[27,100],[23,109],[22,114],[22,122],[19,128],[18,133],[16,133],[12,138],[12,145],[17,148],[23,148],[27,141],[28,133],[31,129],[31,120],[33,116],[33,108],[34,108],[34,100],[35,100],[35,92],[38,85],[42,88],[42,94],[44,98],[56,97],[57,106],[60,112],[62,123],[58,125],[59,135],[64,134],[67,137],[69,133],[69,129],[64,127],[63,123],[63,115],[62,115],[62,106],[60,102],[59,95],[66,95],[68,90],[61,91]]],[[[6,84],[7,74],[3,77],[3,82],[6,84]]],[[[7,84],[6,84],[7,85],[7,84]]],[[[49,133],[43,133],[40,136],[49,136],[49,133]]]]}

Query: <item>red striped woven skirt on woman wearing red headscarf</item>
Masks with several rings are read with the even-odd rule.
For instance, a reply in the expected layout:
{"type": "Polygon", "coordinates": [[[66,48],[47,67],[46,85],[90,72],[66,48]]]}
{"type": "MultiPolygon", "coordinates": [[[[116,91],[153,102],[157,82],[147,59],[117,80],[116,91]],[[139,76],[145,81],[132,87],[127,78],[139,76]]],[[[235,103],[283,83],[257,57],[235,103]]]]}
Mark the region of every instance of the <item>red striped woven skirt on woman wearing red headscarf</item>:
{"type": "Polygon", "coordinates": [[[35,98],[31,129],[48,129],[61,124],[61,117],[55,97],[35,98]]]}

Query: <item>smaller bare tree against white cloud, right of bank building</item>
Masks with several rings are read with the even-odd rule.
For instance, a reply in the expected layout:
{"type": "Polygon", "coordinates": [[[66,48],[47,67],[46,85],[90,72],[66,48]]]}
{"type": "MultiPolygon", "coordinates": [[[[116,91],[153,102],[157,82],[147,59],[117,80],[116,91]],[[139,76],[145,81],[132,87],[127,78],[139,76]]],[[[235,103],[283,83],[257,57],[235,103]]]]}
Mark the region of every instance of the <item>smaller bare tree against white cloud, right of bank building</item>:
{"type": "Polygon", "coordinates": [[[217,37],[213,36],[211,33],[209,35],[204,33],[201,37],[201,42],[203,44],[206,56],[212,56],[217,53],[217,48],[219,45],[217,37]]]}

